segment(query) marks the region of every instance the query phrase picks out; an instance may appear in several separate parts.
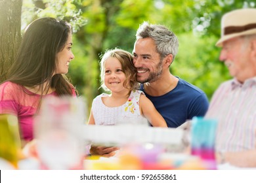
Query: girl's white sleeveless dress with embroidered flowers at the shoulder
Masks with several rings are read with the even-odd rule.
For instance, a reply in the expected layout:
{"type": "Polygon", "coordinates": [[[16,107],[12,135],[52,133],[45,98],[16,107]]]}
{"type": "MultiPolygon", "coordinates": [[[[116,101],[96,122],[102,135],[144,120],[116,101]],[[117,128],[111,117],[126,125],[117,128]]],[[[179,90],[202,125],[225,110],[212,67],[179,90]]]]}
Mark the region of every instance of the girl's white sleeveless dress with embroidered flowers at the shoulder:
{"type": "Polygon", "coordinates": [[[108,97],[102,93],[93,99],[92,112],[96,125],[116,125],[116,124],[145,124],[148,125],[146,118],[140,114],[139,100],[140,90],[133,90],[125,104],[119,107],[107,107],[102,102],[102,97],[108,97]]]}

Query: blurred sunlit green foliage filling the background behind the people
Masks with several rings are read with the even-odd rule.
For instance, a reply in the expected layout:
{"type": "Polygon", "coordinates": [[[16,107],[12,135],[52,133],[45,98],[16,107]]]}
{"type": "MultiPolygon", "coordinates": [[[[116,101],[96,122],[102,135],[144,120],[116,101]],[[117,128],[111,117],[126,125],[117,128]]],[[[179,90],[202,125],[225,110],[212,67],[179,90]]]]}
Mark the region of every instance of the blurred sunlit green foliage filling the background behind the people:
{"type": "Polygon", "coordinates": [[[69,75],[89,108],[102,92],[98,90],[100,54],[116,47],[132,52],[136,30],[144,21],[166,25],[177,35],[180,48],[171,73],[198,86],[211,99],[219,84],[230,78],[215,47],[221,16],[235,8],[255,7],[249,0],[43,0],[45,8],[24,0],[23,5],[25,23],[29,17],[53,16],[73,25],[75,59],[69,75]]]}

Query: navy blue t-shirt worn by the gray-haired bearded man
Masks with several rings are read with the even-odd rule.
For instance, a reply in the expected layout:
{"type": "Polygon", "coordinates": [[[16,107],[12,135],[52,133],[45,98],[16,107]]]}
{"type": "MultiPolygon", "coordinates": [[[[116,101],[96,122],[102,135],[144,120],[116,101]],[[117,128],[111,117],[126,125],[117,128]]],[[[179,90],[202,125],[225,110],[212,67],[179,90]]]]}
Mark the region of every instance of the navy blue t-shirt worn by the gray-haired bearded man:
{"type": "Polygon", "coordinates": [[[181,78],[176,88],[158,97],[148,95],[143,85],[140,90],[152,101],[168,127],[179,127],[194,116],[204,116],[209,107],[205,93],[181,78]]]}

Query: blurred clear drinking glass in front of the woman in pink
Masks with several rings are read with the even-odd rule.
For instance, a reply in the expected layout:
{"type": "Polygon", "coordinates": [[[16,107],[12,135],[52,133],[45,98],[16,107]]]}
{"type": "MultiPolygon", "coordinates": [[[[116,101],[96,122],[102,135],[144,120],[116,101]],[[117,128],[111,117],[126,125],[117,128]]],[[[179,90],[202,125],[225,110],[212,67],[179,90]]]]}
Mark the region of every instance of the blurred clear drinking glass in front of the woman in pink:
{"type": "Polygon", "coordinates": [[[43,169],[83,169],[85,105],[74,97],[43,99],[35,138],[43,169]]]}

